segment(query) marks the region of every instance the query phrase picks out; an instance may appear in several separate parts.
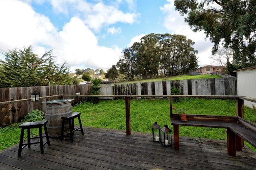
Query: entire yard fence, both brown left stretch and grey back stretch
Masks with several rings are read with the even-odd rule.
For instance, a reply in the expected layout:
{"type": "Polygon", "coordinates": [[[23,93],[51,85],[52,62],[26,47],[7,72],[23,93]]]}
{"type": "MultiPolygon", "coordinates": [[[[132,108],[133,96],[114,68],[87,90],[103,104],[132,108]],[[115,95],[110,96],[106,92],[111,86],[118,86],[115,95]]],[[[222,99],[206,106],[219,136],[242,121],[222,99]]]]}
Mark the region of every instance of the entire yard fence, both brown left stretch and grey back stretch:
{"type": "MultiPolygon", "coordinates": [[[[100,94],[108,95],[102,96],[101,99],[116,98],[110,95],[170,95],[170,89],[173,86],[180,87],[182,95],[237,95],[236,78],[102,84],[100,94]]],[[[19,122],[33,109],[40,109],[45,113],[46,104],[43,102],[58,99],[60,95],[68,95],[64,99],[74,99],[72,105],[89,100],[88,96],[78,97],[75,94],[89,95],[90,84],[36,88],[40,92],[40,102],[30,101],[30,92],[33,87],[0,88],[0,126],[19,122]]],[[[124,99],[125,96],[121,98],[124,99]]]]}

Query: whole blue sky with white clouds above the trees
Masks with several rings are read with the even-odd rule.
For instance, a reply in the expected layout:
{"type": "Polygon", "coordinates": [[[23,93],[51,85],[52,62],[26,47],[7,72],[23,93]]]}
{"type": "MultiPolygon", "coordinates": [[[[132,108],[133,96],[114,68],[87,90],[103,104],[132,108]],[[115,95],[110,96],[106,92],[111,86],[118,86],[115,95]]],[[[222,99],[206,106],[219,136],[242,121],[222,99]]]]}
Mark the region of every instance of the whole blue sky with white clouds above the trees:
{"type": "MultiPolygon", "coordinates": [[[[75,69],[109,69],[143,36],[181,34],[195,42],[199,65],[213,65],[212,43],[192,32],[174,0],[0,0],[0,50],[32,45],[75,69]]],[[[0,54],[0,59],[3,55],[0,54]]]]}

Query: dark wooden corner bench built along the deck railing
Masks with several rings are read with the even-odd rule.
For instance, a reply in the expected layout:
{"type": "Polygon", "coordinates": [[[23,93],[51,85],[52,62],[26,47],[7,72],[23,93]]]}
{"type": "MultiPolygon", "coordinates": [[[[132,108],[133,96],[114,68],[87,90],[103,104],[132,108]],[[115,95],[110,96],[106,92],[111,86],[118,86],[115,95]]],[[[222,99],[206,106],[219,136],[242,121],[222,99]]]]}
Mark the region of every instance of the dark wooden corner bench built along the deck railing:
{"type": "Polygon", "coordinates": [[[215,115],[187,115],[188,121],[181,121],[173,115],[171,124],[174,127],[174,149],[179,150],[179,126],[212,127],[227,129],[228,155],[236,156],[236,150],[242,151],[244,140],[256,147],[256,125],[241,117],[215,115]]]}

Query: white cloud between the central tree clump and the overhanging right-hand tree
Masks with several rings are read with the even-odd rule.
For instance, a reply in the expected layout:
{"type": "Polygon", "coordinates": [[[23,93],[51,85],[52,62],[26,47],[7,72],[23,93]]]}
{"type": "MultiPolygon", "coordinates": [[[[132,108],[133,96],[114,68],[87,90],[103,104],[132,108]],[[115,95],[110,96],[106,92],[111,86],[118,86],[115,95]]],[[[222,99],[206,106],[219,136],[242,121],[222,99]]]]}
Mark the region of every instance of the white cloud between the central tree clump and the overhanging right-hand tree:
{"type": "Polygon", "coordinates": [[[199,65],[210,64],[209,56],[213,43],[205,40],[206,34],[203,32],[193,32],[190,26],[184,22],[184,17],[175,10],[174,0],[167,0],[169,3],[160,8],[165,14],[164,26],[170,30],[172,34],[181,34],[195,42],[194,49],[198,50],[199,65]]]}

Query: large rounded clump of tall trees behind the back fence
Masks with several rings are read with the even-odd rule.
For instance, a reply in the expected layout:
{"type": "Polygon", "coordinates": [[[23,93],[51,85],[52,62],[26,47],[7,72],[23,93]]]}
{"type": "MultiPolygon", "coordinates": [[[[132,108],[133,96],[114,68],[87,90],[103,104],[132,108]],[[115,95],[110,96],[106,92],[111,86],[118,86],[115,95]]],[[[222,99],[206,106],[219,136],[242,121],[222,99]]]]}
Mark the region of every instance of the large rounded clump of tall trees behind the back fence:
{"type": "Polygon", "coordinates": [[[142,79],[162,75],[180,75],[198,67],[194,42],[186,36],[171,34],[148,34],[123,50],[117,65],[120,73],[142,79]]]}

